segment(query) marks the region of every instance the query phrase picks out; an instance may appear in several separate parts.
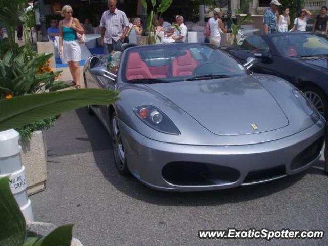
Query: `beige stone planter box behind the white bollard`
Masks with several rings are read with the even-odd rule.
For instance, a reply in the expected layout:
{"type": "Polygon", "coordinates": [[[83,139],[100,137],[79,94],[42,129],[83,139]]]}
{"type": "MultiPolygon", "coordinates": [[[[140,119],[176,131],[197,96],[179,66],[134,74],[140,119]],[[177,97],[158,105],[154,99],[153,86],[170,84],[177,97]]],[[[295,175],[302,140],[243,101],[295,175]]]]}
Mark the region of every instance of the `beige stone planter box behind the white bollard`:
{"type": "Polygon", "coordinates": [[[47,150],[42,131],[35,131],[29,142],[21,142],[20,156],[26,168],[27,194],[31,195],[46,188],[47,150]]]}

